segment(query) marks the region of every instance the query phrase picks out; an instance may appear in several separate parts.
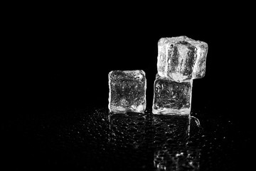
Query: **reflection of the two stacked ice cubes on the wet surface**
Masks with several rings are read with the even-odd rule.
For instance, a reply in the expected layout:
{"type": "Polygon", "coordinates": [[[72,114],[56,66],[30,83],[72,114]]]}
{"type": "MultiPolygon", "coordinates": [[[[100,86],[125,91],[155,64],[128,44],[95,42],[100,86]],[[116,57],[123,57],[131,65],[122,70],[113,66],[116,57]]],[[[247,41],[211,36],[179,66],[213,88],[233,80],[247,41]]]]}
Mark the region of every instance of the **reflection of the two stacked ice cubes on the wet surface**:
{"type": "Polygon", "coordinates": [[[199,121],[190,116],[155,115],[154,139],[162,142],[154,150],[155,170],[199,170],[200,150],[193,142],[191,122],[200,127],[199,121]]]}

